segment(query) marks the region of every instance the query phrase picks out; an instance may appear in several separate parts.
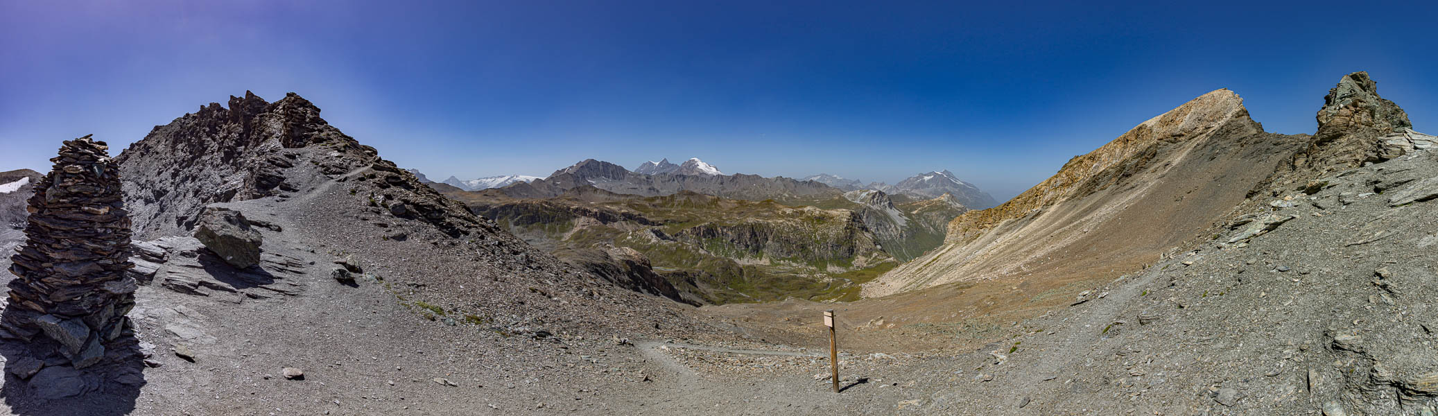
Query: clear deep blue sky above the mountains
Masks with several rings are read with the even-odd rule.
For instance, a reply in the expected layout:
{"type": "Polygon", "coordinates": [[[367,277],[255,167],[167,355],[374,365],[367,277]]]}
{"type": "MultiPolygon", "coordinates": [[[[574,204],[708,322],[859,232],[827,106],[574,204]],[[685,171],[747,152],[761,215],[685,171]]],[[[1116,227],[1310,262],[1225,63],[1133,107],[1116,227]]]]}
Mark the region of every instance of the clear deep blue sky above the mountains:
{"type": "Polygon", "coordinates": [[[948,168],[999,199],[1218,88],[1313,132],[1369,71],[1438,131],[1432,1],[1087,3],[0,0],[0,170],[85,134],[118,151],[246,89],[299,92],[431,178],[700,157],[948,168]]]}

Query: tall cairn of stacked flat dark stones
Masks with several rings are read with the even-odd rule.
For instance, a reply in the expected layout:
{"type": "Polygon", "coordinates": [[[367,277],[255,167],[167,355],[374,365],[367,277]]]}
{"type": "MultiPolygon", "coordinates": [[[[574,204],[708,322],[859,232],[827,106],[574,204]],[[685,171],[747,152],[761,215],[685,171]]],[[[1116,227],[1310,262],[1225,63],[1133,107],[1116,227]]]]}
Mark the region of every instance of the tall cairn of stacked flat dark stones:
{"type": "Polygon", "coordinates": [[[35,184],[26,242],[10,259],[3,327],[40,358],[59,353],[76,368],[99,363],[129,327],[135,307],[129,213],[119,168],[104,141],[65,141],[55,168],[35,184]],[[42,335],[43,337],[39,337],[42,335]]]}

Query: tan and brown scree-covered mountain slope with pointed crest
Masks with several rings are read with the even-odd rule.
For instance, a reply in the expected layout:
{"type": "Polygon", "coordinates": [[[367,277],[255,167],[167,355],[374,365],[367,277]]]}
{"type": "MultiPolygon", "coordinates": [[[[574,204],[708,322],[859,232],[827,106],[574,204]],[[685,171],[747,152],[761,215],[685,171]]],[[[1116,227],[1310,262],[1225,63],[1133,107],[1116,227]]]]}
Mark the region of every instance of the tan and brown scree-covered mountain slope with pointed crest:
{"type": "Polygon", "coordinates": [[[1264,132],[1228,89],[1205,94],[998,207],[961,214],[943,246],[864,294],[998,278],[1063,286],[1130,272],[1228,216],[1306,141],[1264,132]]]}

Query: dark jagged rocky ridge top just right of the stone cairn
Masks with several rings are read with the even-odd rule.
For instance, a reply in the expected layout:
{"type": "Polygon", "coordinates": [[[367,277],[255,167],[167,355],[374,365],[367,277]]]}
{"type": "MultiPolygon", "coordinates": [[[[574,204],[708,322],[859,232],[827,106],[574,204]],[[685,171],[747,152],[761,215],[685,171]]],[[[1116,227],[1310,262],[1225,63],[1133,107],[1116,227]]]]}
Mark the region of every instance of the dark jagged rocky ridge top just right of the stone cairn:
{"type": "Polygon", "coordinates": [[[190,235],[213,203],[288,199],[341,178],[372,183],[381,191],[370,196],[371,204],[450,236],[495,230],[413,173],[380,158],[374,147],[329,125],[318,107],[293,92],[275,102],[246,92],[230,96],[229,108],[211,102],[155,127],[115,161],[135,233],[144,239],[190,235]]]}

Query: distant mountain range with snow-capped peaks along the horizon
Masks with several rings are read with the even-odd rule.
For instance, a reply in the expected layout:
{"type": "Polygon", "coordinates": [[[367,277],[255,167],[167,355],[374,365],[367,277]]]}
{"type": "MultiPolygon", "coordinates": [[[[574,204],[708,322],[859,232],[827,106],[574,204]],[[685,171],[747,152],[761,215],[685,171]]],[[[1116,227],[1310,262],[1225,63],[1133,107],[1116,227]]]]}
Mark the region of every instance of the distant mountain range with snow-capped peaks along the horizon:
{"type": "Polygon", "coordinates": [[[489,207],[515,199],[607,203],[627,196],[661,197],[686,191],[731,200],[771,200],[792,207],[853,210],[883,249],[899,261],[912,259],[942,243],[945,226],[955,216],[972,207],[995,204],[991,196],[949,171],[919,174],[896,186],[861,186],[857,180],[833,174],[804,180],[722,174],[699,158],[683,164],[649,161],[634,171],[590,158],[555,170],[545,178],[452,197],[464,200],[472,207],[489,207]]]}

